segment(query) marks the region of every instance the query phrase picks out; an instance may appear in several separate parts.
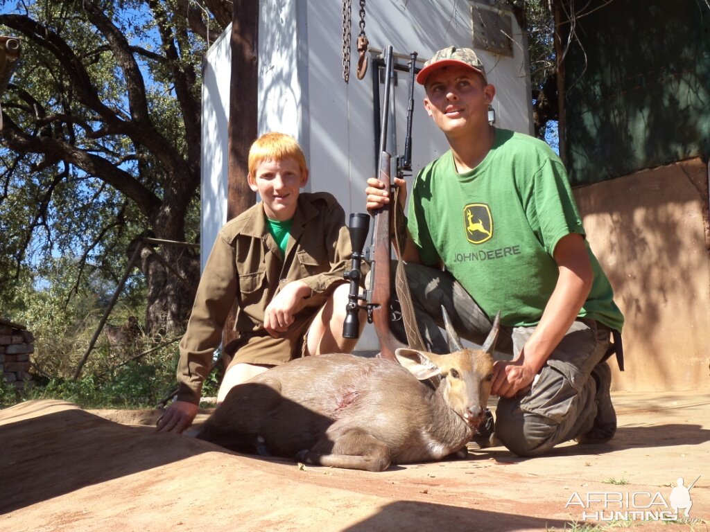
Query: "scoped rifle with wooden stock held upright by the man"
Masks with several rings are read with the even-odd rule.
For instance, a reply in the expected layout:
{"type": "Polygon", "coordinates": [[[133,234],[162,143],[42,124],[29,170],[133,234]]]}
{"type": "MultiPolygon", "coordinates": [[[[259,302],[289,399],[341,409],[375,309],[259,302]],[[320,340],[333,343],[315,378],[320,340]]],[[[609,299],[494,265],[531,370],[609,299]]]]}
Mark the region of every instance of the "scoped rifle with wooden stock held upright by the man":
{"type": "MultiPolygon", "coordinates": [[[[412,164],[412,113],[414,109],[414,75],[417,54],[410,55],[408,72],[410,74],[409,104],[407,111],[407,135],[405,137],[405,153],[396,158],[397,175],[405,177],[405,172],[411,171],[412,164]]],[[[393,194],[396,187],[391,179],[391,155],[388,153],[388,116],[390,113],[391,81],[393,77],[393,52],[388,46],[385,50],[385,87],[381,105],[382,121],[380,129],[378,178],[386,184],[390,191],[391,201],[373,211],[372,217],[375,227],[372,235],[372,244],[368,253],[362,253],[365,239],[369,231],[369,216],[364,213],[353,213],[349,219],[350,239],[353,248],[352,269],[345,272],[346,279],[350,280],[349,301],[346,306],[346,320],[343,326],[345,338],[357,338],[359,332],[358,311],[367,310],[368,323],[373,323],[378,340],[380,341],[380,357],[394,360],[395,349],[405,347],[392,333],[390,323],[393,319],[400,318],[399,311],[391,310],[391,238],[395,229],[393,214],[397,209],[396,196],[393,194]],[[359,295],[359,281],[361,279],[361,260],[367,258],[371,265],[370,289],[366,289],[363,296],[359,295]],[[367,301],[361,306],[359,300],[367,301]]]]}

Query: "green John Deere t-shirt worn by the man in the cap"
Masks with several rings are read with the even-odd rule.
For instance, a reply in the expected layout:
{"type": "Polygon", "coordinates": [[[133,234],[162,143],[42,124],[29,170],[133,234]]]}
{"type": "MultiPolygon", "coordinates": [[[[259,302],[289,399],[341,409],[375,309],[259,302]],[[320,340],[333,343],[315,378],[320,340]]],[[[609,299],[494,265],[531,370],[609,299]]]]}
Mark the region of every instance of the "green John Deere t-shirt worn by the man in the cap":
{"type": "MultiPolygon", "coordinates": [[[[506,326],[534,326],[557,283],[555,245],[584,227],[562,161],[529,135],[496,129],[486,158],[459,174],[447,153],[414,183],[409,229],[422,263],[442,260],[488,314],[506,326]]],[[[599,261],[579,316],[621,331],[623,315],[599,261]]]]}

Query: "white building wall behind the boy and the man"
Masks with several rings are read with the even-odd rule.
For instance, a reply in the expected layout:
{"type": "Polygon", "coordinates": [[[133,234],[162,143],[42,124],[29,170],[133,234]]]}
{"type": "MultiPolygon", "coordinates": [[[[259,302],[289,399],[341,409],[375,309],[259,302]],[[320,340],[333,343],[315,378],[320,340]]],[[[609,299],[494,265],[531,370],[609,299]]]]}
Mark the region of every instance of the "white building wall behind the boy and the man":
{"type": "MultiPolygon", "coordinates": [[[[419,54],[419,65],[447,45],[473,47],[472,16],[491,11],[491,1],[371,1],[366,34],[371,49],[392,45],[395,54],[419,54]],[[472,12],[472,10],[474,10],[472,12]]],[[[259,21],[258,131],[281,131],[299,140],[310,166],[306,189],[334,194],[346,214],[364,211],[366,179],[375,174],[371,75],[356,77],[359,3],[352,2],[351,74],[342,79],[342,1],[263,0],[259,21]]],[[[496,86],[496,126],[530,133],[531,101],[526,45],[512,13],[513,57],[476,48],[488,82],[496,86]]],[[[207,54],[202,114],[202,265],[226,221],[227,121],[231,28],[207,54]]],[[[403,61],[404,62],[404,61],[403,61]]],[[[397,153],[406,126],[408,79],[398,73],[393,87],[397,153]]],[[[424,91],[415,84],[413,172],[448,149],[444,135],[424,110],[424,91]]],[[[390,124],[393,127],[393,124],[390,124]]],[[[396,153],[393,153],[393,160],[396,153]]],[[[359,349],[376,349],[371,328],[359,349]]]]}

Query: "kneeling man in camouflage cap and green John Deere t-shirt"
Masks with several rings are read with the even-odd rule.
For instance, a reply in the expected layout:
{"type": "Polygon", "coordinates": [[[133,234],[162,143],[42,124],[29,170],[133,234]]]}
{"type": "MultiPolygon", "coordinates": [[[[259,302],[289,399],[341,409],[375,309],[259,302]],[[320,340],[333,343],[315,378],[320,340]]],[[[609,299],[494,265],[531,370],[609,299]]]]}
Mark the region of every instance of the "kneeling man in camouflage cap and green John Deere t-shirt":
{"type": "MultiPolygon", "coordinates": [[[[496,436],[518,455],[616,431],[605,358],[623,316],[585,239],[567,174],[541,140],[488,123],[496,89],[469,48],[439,50],[417,74],[424,106],[451,150],[415,179],[403,251],[422,336],[444,351],[444,306],[481,342],[501,311],[491,392],[496,436]]],[[[400,187],[404,207],[406,185],[400,187]]],[[[369,179],[368,210],[389,201],[369,179]]]]}

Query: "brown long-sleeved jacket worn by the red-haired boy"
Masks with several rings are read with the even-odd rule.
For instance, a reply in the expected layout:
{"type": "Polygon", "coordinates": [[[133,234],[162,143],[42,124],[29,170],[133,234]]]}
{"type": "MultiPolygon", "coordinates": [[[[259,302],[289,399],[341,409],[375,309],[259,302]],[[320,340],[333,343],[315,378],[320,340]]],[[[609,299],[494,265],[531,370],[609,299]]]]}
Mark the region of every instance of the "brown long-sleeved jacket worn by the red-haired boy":
{"type": "MultiPolygon", "coordinates": [[[[352,249],[345,213],[332,194],[302,192],[290,234],[283,260],[261,202],[219,231],[180,342],[178,401],[199,402],[212,353],[222,343],[224,323],[235,301],[234,330],[265,334],[264,311],[284,284],[301,279],[315,295],[345,282],[343,272],[350,267],[352,249]]],[[[310,320],[318,309],[307,306],[296,314],[292,327],[310,320]]]]}

